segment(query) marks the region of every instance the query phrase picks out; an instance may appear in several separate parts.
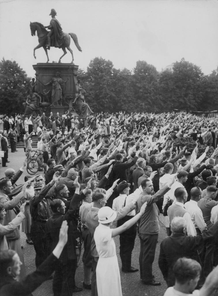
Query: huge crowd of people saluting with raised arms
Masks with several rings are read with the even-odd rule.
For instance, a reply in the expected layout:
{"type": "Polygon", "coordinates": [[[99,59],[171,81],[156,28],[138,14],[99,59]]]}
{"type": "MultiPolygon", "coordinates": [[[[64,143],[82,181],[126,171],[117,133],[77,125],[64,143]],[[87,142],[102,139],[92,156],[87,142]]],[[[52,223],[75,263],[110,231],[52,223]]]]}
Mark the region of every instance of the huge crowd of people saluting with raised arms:
{"type": "MultiPolygon", "coordinates": [[[[83,288],[92,296],[122,295],[113,241],[117,235],[121,272],[139,272],[141,283],[159,286],[152,264],[160,214],[167,230],[158,260],[168,287],[165,295],[209,296],[218,288],[217,115],[102,112],[80,119],[51,112],[34,120],[5,115],[0,120],[2,166],[8,161],[5,146],[10,133],[19,134],[26,154],[17,172],[8,168],[0,180],[0,292],[17,295],[12,288],[5,292],[6,286],[14,285],[8,278],[17,277],[21,289],[26,281],[19,225],[35,249],[39,276],[45,275],[43,267],[52,256],[48,255],[58,246],[63,221],[68,239],[56,256],[53,293],[82,291],[75,282],[78,217],[84,242],[83,288]],[[38,137],[43,172],[33,178],[27,175],[25,183],[17,185],[31,157],[32,136],[38,137]],[[178,138],[193,139],[194,149],[177,146],[178,138]],[[200,155],[199,145],[205,145],[200,155]],[[209,147],[214,147],[212,155],[209,147]],[[139,269],[131,262],[137,233],[139,269]],[[18,274],[8,268],[15,264],[14,256],[18,274]]],[[[51,270],[44,280],[48,276],[51,270]]],[[[33,291],[36,286],[31,287],[33,291]]]]}

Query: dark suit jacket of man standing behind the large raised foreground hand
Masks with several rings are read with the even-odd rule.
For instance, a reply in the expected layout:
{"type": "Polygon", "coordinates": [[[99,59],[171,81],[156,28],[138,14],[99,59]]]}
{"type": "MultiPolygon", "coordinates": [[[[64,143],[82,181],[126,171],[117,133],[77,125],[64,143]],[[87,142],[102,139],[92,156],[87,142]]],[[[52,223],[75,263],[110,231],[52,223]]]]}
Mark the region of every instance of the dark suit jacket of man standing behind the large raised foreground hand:
{"type": "Polygon", "coordinates": [[[75,211],[79,209],[78,204],[81,202],[82,197],[79,194],[74,194],[70,202],[69,210],[64,215],[61,215],[60,213],[54,213],[46,222],[45,233],[46,237],[51,242],[51,250],[54,250],[56,244],[58,243],[62,222],[66,220],[68,223],[68,240],[60,258],[60,260],[63,260],[63,263],[67,263],[68,260],[75,260],[77,258],[75,247],[75,234],[77,233],[77,225],[76,220],[74,219],[74,214],[75,211]]]}

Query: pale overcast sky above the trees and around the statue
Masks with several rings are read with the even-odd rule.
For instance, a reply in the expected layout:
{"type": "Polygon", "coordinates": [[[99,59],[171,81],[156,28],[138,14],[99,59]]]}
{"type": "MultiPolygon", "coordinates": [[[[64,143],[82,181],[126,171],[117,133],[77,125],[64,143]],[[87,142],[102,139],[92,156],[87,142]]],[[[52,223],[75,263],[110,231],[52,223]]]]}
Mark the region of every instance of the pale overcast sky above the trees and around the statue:
{"type": "MultiPolygon", "coordinates": [[[[82,53],[71,39],[74,63],[86,70],[91,59],[111,60],[133,70],[144,60],[158,71],[185,58],[210,74],[218,66],[218,1],[150,0],[0,0],[0,59],[15,60],[33,77],[33,64],[46,62],[36,50],[30,21],[48,26],[51,8],[64,32],[77,34],[82,53]]],[[[68,52],[68,51],[67,51],[68,52]]],[[[48,51],[58,61],[62,49],[48,51]]],[[[68,52],[62,62],[71,62],[68,52]]]]}

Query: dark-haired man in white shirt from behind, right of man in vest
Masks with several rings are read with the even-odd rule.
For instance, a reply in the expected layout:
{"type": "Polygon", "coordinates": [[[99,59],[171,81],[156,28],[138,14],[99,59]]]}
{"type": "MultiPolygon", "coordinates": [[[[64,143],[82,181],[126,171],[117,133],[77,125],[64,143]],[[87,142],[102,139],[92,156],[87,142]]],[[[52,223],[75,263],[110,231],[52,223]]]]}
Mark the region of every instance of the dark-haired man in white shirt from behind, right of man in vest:
{"type": "Polygon", "coordinates": [[[207,225],[204,222],[203,214],[198,206],[198,201],[202,197],[202,191],[199,187],[193,187],[191,189],[191,200],[185,203],[185,209],[191,216],[191,221],[193,222],[197,234],[201,234],[207,230],[207,225]]]}

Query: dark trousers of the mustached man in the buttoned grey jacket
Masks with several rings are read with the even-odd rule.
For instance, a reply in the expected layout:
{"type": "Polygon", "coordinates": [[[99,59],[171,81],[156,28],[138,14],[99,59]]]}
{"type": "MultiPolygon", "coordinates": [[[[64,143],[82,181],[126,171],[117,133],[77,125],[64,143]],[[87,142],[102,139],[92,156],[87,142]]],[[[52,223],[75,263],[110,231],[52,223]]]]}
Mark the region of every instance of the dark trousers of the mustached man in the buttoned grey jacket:
{"type": "Polygon", "coordinates": [[[157,245],[158,234],[141,235],[140,234],[140,276],[144,282],[153,280],[152,263],[154,262],[155,250],[157,245]],[[142,248],[142,250],[141,250],[142,248]]]}

